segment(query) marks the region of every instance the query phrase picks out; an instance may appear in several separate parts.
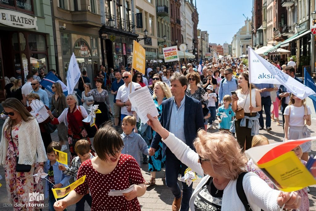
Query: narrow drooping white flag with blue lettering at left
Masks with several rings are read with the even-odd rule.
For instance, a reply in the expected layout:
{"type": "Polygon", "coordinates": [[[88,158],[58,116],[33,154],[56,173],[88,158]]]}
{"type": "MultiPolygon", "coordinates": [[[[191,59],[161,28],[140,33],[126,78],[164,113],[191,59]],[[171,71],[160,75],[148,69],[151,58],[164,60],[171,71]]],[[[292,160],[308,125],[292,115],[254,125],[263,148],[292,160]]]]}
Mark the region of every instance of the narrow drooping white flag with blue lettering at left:
{"type": "Polygon", "coordinates": [[[81,72],[75,57],[75,54],[72,53],[70,58],[69,67],[67,71],[67,87],[68,87],[68,94],[73,94],[75,85],[79,81],[81,72]]]}

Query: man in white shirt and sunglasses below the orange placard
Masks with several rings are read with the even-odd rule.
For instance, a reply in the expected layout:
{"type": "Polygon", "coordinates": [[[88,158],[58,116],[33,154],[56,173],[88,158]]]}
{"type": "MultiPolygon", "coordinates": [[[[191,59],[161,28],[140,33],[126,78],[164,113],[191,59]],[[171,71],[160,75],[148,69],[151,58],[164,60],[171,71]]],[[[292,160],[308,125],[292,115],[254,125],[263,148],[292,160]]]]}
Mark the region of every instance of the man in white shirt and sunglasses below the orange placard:
{"type": "MultiPolygon", "coordinates": [[[[131,93],[131,73],[124,72],[122,75],[122,79],[124,81],[124,85],[120,86],[117,94],[116,94],[116,105],[121,108],[121,122],[123,118],[128,115],[133,115],[133,111],[130,110],[131,102],[128,99],[128,95],[131,93]],[[128,111],[130,110],[130,111],[128,111]]],[[[135,82],[132,82],[132,92],[138,88],[141,88],[141,85],[135,82]]]]}

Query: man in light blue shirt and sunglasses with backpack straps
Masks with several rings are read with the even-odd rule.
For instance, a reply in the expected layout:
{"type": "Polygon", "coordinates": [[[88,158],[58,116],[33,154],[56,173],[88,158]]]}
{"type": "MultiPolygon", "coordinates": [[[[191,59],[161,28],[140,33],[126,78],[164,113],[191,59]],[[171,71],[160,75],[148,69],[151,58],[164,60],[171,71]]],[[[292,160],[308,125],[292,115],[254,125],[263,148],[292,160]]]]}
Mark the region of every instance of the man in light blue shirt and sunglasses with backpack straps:
{"type": "Polygon", "coordinates": [[[221,84],[218,90],[218,106],[221,106],[223,103],[223,97],[225,95],[232,95],[232,91],[236,91],[238,88],[237,78],[233,78],[232,68],[226,68],[224,70],[225,78],[222,79],[221,84]]]}

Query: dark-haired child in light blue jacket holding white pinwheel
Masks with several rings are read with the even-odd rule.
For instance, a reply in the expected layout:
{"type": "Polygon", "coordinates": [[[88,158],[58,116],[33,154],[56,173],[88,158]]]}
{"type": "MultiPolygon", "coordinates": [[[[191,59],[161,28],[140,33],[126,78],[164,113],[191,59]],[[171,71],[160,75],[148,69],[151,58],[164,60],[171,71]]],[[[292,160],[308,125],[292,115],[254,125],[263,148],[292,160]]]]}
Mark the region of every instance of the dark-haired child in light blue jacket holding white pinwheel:
{"type": "MultiPolygon", "coordinates": [[[[44,172],[47,173],[47,179],[51,182],[48,182],[45,180],[45,189],[44,189],[44,195],[45,198],[49,196],[48,199],[48,210],[54,211],[54,203],[56,202],[56,199],[54,197],[54,194],[52,192],[52,188],[64,188],[69,185],[69,179],[70,177],[67,175],[64,175],[62,171],[58,169],[58,163],[56,161],[55,152],[56,150],[61,150],[61,145],[58,142],[51,142],[47,146],[47,158],[48,161],[44,164],[44,172]],[[53,184],[54,185],[53,185],[53,184]]],[[[61,164],[64,165],[64,164],[61,164]]],[[[64,165],[68,168],[67,165],[64,165]]]]}

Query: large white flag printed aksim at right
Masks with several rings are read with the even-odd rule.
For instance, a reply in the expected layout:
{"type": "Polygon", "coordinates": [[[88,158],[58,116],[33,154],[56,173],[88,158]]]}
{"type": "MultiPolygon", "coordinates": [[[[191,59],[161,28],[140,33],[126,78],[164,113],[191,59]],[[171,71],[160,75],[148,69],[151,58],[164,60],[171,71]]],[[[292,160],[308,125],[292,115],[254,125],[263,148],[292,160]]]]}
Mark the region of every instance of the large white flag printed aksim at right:
{"type": "Polygon", "coordinates": [[[304,99],[315,92],[281,71],[276,66],[255,53],[248,47],[249,62],[249,83],[254,84],[282,84],[300,99],[304,99]]]}

